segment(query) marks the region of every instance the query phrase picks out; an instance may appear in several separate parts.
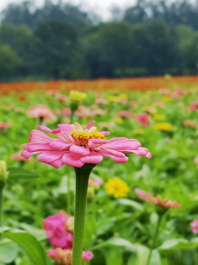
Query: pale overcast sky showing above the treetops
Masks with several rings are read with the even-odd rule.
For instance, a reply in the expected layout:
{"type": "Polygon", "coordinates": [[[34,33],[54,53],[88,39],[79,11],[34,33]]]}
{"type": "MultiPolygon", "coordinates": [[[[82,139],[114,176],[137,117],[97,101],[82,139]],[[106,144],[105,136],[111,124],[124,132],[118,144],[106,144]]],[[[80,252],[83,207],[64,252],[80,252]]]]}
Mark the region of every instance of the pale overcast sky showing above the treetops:
{"type": "MultiPolygon", "coordinates": [[[[110,7],[113,5],[119,7],[126,7],[134,4],[136,0],[62,0],[63,2],[70,2],[72,4],[82,4],[85,10],[90,8],[99,13],[103,19],[108,19],[110,16],[110,7]]],[[[22,0],[0,0],[0,10],[2,10],[8,3],[20,3],[22,0]]],[[[37,6],[42,6],[44,0],[35,0],[37,6]]],[[[52,0],[56,3],[58,0],[52,0]]]]}

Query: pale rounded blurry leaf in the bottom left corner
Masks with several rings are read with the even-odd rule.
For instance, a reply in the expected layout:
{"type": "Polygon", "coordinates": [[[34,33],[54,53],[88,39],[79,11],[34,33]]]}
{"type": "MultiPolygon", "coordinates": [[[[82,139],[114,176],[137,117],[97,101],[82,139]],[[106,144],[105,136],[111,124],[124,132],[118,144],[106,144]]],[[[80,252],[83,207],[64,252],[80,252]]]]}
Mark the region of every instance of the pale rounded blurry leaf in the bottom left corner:
{"type": "Polygon", "coordinates": [[[17,252],[17,244],[4,242],[4,244],[0,246],[0,261],[3,263],[11,263],[16,258],[17,252]]]}

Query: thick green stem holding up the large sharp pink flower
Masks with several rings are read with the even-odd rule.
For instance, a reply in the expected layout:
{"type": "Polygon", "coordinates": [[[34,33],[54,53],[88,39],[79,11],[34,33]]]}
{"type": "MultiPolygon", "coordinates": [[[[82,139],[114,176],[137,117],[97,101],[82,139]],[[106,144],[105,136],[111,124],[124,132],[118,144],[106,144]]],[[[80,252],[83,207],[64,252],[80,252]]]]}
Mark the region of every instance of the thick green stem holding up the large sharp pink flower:
{"type": "Polygon", "coordinates": [[[72,249],[72,265],[82,264],[84,220],[87,201],[89,175],[94,165],[84,164],[81,168],[74,168],[76,174],[74,236],[72,249]]]}

